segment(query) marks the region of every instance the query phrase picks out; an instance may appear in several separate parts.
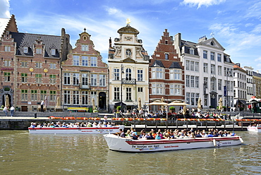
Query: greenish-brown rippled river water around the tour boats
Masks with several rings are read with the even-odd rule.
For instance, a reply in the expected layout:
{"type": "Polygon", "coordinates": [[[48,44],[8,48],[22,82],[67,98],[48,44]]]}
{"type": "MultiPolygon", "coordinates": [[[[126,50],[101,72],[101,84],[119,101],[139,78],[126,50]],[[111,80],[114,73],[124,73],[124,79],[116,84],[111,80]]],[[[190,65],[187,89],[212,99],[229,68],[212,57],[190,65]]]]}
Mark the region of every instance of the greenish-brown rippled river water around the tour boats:
{"type": "Polygon", "coordinates": [[[98,134],[0,131],[0,174],[261,174],[261,133],[236,134],[243,145],[128,153],[98,134]]]}

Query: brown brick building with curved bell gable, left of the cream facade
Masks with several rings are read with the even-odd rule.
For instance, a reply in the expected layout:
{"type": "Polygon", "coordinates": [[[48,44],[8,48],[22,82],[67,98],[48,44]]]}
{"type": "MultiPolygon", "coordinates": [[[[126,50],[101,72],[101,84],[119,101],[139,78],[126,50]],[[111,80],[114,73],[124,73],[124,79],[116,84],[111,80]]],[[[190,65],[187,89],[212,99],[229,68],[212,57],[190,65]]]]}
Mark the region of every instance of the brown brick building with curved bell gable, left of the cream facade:
{"type": "Polygon", "coordinates": [[[61,64],[63,76],[64,107],[98,107],[107,110],[109,99],[108,66],[95,50],[95,45],[87,32],[71,49],[67,59],[61,64]],[[94,103],[94,104],[93,104],[94,103]]]}

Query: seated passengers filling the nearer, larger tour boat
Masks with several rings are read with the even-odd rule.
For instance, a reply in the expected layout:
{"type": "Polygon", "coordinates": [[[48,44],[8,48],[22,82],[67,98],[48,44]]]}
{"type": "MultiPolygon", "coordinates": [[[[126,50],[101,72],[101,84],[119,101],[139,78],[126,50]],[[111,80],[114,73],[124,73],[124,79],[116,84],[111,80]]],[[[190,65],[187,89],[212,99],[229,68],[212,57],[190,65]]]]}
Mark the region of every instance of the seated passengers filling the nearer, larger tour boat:
{"type": "Polygon", "coordinates": [[[165,129],[162,132],[160,129],[158,131],[154,131],[152,129],[150,132],[142,129],[140,131],[140,135],[137,134],[134,128],[130,128],[126,133],[122,129],[120,129],[120,133],[116,133],[122,138],[132,138],[133,140],[154,140],[154,139],[175,139],[175,138],[208,138],[208,137],[229,137],[236,135],[235,133],[231,133],[229,131],[219,131],[218,129],[210,128],[208,131],[205,130],[194,130],[191,128],[189,131],[186,129],[174,131],[171,129],[165,129]]]}

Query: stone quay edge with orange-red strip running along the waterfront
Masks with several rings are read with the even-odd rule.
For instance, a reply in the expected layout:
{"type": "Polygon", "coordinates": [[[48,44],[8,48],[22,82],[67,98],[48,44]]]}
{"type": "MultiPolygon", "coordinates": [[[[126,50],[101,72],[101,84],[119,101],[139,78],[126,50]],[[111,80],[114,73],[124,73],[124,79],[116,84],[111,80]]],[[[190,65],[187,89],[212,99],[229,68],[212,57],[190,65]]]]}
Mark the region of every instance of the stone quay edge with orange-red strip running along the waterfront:
{"type": "MultiPolygon", "coordinates": [[[[99,122],[104,121],[105,114],[86,113],[86,112],[25,112],[18,111],[14,116],[4,116],[0,113],[1,130],[27,130],[30,123],[51,123],[63,121],[66,123],[75,122],[99,122]]],[[[150,131],[155,129],[184,129],[195,128],[200,131],[208,128],[217,128],[226,131],[247,131],[247,126],[254,123],[261,123],[261,114],[252,114],[247,112],[228,112],[224,113],[224,119],[176,119],[169,117],[166,119],[133,119],[120,118],[114,114],[106,114],[110,122],[116,125],[125,125],[128,128],[135,128],[136,131],[145,129],[150,131]]]]}

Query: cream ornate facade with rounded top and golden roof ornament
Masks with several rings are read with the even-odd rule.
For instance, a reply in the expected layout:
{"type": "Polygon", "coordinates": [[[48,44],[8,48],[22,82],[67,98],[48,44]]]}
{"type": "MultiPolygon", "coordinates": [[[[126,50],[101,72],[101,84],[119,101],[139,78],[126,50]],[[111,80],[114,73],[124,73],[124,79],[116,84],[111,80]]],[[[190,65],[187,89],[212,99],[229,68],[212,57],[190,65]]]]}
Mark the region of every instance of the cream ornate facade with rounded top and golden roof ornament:
{"type": "Polygon", "coordinates": [[[149,59],[150,56],[138,39],[139,31],[129,24],[118,30],[119,38],[114,39],[114,47],[109,40],[109,105],[111,111],[116,106],[133,109],[149,102],[149,59]]]}

